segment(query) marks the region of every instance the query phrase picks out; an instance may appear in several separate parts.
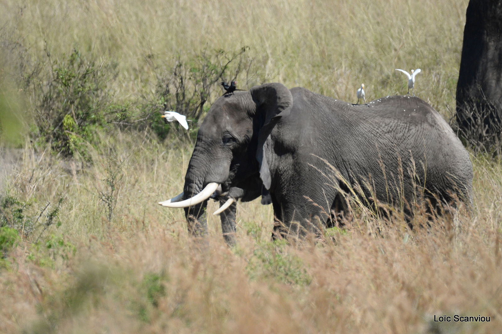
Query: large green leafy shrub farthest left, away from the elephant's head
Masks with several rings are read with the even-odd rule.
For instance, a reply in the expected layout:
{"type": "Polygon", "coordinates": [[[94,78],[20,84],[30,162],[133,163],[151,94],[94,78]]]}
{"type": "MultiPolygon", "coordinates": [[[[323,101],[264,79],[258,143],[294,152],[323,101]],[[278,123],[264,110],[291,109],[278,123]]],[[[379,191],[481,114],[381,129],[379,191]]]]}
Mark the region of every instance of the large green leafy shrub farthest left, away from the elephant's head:
{"type": "Polygon", "coordinates": [[[96,130],[119,109],[107,87],[117,65],[97,64],[77,49],[62,61],[53,61],[49,52],[47,59],[48,78],[39,76],[31,85],[36,99],[34,135],[62,156],[88,158],[87,145],[98,143],[96,130]]]}

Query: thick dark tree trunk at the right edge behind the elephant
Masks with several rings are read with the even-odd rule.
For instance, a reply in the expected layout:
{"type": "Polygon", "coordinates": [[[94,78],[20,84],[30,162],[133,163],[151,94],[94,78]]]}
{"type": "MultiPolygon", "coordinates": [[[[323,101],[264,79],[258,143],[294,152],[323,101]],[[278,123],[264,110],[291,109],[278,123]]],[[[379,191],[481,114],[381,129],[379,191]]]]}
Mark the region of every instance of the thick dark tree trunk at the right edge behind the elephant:
{"type": "Polygon", "coordinates": [[[502,140],[502,0],[470,0],[456,91],[459,132],[476,149],[502,140]]]}

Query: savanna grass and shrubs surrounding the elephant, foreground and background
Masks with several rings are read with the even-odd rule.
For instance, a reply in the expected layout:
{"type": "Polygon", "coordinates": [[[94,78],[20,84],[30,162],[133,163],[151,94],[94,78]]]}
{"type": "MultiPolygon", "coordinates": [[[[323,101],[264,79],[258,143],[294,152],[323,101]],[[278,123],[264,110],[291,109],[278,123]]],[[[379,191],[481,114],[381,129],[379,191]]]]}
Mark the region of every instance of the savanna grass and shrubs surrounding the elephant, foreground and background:
{"type": "MultiPolygon", "coordinates": [[[[351,203],[321,237],[237,245],[178,194],[198,124],[263,82],[355,102],[415,93],[454,126],[467,0],[0,0],[0,332],[502,332],[502,162],[472,153],[473,206],[410,230],[351,203]],[[187,116],[189,130],[161,111],[187,116]],[[434,322],[434,316],[490,322],[434,322]]],[[[216,203],[209,203],[212,212],[216,203]]]]}

